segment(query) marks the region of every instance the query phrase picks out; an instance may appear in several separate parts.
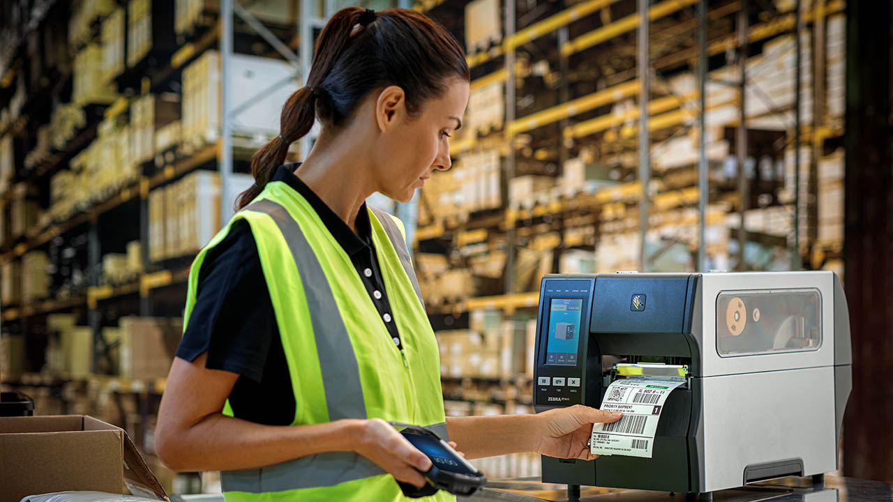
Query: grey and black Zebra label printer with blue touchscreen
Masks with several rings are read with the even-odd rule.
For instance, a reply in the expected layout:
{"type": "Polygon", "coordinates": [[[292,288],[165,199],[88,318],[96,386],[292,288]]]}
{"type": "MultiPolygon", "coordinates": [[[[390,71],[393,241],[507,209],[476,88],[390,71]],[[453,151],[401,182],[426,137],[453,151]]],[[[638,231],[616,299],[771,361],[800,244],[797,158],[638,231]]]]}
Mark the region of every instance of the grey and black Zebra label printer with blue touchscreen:
{"type": "Polygon", "coordinates": [[[599,407],[630,376],[683,381],[651,458],[543,456],[543,481],[709,497],[837,469],[852,360],[833,272],[550,274],[537,322],[537,412],[599,407]]]}

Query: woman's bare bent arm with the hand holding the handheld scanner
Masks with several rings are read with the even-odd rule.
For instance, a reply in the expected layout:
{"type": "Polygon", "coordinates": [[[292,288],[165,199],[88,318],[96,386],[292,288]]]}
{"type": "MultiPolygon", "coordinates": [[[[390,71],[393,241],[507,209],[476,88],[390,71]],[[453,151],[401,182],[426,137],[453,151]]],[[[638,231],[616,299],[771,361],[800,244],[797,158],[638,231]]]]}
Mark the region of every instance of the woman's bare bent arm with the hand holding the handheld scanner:
{"type": "Polygon", "coordinates": [[[155,450],[171,469],[249,469],[314,453],[355,451],[399,481],[424,485],[416,469],[427,471],[430,460],[380,419],[276,426],[222,414],[238,374],[205,368],[205,357],[191,363],[177,357],[168,375],[155,450]]]}

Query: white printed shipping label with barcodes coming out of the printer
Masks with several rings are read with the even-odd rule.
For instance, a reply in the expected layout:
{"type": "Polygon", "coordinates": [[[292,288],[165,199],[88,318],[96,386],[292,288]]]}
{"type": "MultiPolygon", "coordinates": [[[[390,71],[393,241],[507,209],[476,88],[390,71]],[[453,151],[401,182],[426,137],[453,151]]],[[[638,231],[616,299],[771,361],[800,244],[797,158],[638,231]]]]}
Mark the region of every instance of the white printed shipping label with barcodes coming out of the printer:
{"type": "Polygon", "coordinates": [[[614,423],[596,423],[589,450],[596,455],[625,455],[651,458],[657,423],[663,403],[685,381],[623,379],[613,381],[605,392],[602,408],[622,412],[614,423]]]}

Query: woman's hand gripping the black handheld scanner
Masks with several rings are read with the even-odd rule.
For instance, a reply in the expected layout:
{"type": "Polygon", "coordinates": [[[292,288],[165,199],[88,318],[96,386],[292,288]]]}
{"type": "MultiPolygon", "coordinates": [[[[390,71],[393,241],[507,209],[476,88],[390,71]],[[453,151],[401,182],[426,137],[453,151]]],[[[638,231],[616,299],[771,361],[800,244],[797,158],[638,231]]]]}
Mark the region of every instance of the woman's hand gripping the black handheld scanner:
{"type": "Polygon", "coordinates": [[[425,486],[427,481],[421,473],[431,468],[428,456],[413,447],[390,423],[380,418],[360,420],[357,423],[356,453],[391,473],[397,481],[409,483],[416,488],[425,486]]]}

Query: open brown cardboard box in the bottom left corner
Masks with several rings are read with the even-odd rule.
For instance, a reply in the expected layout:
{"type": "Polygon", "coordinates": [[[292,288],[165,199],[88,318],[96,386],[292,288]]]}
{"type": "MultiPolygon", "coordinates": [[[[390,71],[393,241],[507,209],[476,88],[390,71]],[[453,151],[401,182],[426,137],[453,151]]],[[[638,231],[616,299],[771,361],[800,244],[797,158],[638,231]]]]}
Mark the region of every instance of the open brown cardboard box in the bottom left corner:
{"type": "Polygon", "coordinates": [[[127,434],[86,415],[0,417],[0,502],[63,490],[168,500],[127,434]]]}

